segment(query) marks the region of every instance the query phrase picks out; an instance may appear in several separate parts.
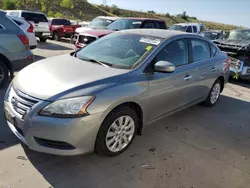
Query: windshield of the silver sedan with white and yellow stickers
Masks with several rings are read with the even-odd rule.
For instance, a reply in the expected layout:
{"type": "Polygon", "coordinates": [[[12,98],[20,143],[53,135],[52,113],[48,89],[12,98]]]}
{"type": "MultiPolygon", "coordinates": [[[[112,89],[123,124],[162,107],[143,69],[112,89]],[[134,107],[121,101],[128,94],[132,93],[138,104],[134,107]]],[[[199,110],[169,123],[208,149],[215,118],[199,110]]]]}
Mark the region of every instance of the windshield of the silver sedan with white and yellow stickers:
{"type": "Polygon", "coordinates": [[[132,69],[143,62],[161,41],[156,37],[115,33],[86,46],[77,52],[76,57],[108,63],[113,68],[132,69]]]}

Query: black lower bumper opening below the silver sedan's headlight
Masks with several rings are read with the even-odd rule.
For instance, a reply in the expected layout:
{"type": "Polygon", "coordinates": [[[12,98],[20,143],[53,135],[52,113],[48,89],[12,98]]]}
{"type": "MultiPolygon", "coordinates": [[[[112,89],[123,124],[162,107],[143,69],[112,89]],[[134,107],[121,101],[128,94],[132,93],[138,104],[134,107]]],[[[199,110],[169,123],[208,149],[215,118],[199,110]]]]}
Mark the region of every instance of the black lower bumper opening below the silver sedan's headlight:
{"type": "Polygon", "coordinates": [[[66,143],[66,142],[47,140],[47,139],[38,138],[38,137],[34,137],[34,139],[36,140],[36,142],[39,145],[44,146],[44,147],[48,147],[48,148],[62,149],[62,150],[75,149],[74,146],[72,146],[71,144],[66,143]]]}

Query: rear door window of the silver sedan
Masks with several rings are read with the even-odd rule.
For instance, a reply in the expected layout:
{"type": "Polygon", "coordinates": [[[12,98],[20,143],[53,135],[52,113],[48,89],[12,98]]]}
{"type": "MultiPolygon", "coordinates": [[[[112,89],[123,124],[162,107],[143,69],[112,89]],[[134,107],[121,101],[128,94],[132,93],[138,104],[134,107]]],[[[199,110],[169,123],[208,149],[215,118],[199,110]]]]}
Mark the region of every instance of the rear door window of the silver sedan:
{"type": "Polygon", "coordinates": [[[193,61],[202,61],[210,58],[209,44],[202,40],[192,40],[193,61]]]}

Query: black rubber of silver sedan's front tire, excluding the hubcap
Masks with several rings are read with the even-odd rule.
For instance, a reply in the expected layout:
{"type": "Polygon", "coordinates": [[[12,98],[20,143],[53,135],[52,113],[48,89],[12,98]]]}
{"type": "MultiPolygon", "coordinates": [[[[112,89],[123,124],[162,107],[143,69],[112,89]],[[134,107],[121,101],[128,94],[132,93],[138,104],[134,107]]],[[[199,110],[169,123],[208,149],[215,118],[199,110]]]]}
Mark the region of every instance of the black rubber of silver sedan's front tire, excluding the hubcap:
{"type": "Polygon", "coordinates": [[[125,151],[130,146],[130,144],[133,142],[134,137],[135,137],[137,130],[138,130],[138,126],[139,126],[138,116],[137,116],[136,112],[133,109],[131,109],[129,106],[121,106],[121,107],[115,109],[105,118],[105,120],[103,121],[103,123],[98,131],[96,143],[95,143],[95,152],[99,155],[108,156],[108,157],[113,157],[113,156],[119,155],[120,153],[125,151]],[[134,134],[133,134],[131,141],[129,142],[129,144],[125,148],[123,148],[122,150],[120,150],[118,152],[112,152],[106,146],[106,135],[107,135],[107,132],[108,132],[111,124],[117,118],[119,118],[121,116],[130,116],[134,120],[135,131],[134,131],[134,134]]]}

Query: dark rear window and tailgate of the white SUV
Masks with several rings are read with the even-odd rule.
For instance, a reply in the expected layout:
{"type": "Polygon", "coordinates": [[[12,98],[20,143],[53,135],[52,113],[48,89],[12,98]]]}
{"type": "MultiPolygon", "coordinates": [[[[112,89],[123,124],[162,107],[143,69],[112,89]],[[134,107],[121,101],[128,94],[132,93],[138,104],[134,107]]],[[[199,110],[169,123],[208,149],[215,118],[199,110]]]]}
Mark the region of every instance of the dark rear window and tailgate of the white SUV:
{"type": "Polygon", "coordinates": [[[48,33],[49,22],[44,14],[33,12],[22,12],[22,17],[34,25],[35,32],[48,33]]]}

